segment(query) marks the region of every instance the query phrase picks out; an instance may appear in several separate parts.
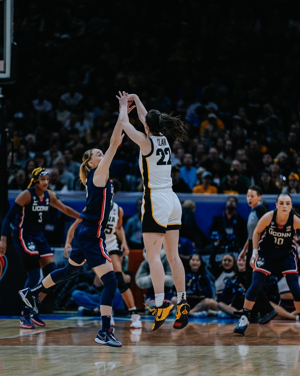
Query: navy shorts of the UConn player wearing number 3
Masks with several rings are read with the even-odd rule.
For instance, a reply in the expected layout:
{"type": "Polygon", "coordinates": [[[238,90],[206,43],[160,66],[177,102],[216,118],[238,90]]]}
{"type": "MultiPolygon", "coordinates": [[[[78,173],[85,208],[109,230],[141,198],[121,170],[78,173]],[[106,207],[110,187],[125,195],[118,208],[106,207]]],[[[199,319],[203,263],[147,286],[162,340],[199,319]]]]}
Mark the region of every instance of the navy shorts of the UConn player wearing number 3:
{"type": "Polygon", "coordinates": [[[16,228],[13,231],[13,246],[21,259],[29,256],[40,258],[53,256],[45,235],[42,232],[28,232],[24,229],[16,228]]]}

